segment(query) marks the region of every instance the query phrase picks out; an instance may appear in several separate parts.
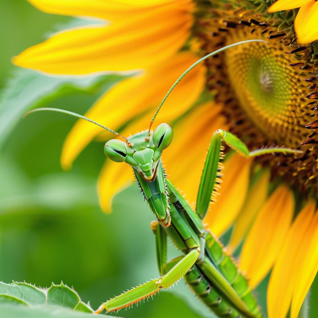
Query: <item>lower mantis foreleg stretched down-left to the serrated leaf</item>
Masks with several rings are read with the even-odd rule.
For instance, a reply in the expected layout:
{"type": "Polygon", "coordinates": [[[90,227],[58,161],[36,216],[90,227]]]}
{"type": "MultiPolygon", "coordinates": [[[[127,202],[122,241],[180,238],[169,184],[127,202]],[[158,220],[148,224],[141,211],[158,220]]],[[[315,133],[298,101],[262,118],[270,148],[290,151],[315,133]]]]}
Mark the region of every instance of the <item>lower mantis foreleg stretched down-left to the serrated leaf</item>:
{"type": "Polygon", "coordinates": [[[143,285],[137,286],[106,301],[96,313],[100,312],[102,309],[106,309],[107,312],[110,312],[129,307],[130,305],[156,294],[161,288],[168,288],[190,270],[199,257],[199,254],[200,252],[198,249],[191,250],[187,255],[178,260],[168,273],[159,279],[150,280],[143,285]]]}

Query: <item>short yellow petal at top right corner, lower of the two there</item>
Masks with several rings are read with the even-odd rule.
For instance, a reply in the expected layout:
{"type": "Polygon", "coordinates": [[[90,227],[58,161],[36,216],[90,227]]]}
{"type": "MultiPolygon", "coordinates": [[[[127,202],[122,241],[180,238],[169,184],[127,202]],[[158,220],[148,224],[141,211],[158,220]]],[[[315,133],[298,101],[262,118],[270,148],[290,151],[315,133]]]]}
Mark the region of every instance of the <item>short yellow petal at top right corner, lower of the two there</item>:
{"type": "Polygon", "coordinates": [[[295,19],[297,41],[308,44],[318,39],[318,2],[311,0],[303,5],[295,19]]]}

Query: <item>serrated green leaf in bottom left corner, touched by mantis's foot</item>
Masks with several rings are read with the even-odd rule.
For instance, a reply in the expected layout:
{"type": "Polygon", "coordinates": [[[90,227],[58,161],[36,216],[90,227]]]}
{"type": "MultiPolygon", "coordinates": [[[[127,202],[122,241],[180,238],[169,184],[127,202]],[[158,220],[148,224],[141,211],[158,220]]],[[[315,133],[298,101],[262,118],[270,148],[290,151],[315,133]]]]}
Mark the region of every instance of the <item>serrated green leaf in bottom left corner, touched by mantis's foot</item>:
{"type": "Polygon", "coordinates": [[[50,288],[40,288],[25,282],[13,282],[11,284],[0,282],[0,306],[3,309],[0,309],[1,313],[8,311],[8,315],[4,315],[5,317],[28,316],[29,311],[26,311],[26,315],[21,314],[18,316],[17,311],[21,309],[15,309],[13,306],[30,307],[32,309],[30,317],[37,317],[37,312],[42,310],[51,311],[51,314],[48,312],[49,315],[45,315],[45,317],[82,317],[81,315],[70,314],[69,310],[71,309],[77,312],[93,313],[89,303],[85,304],[73,287],[70,288],[64,285],[63,282],[59,285],[52,283],[50,288]],[[4,305],[10,307],[5,307],[4,305]],[[44,309],[45,307],[49,309],[44,309]],[[41,309],[39,310],[39,308],[41,309]],[[57,308],[59,309],[56,310],[57,308]],[[64,309],[69,310],[65,311],[64,309]]]}

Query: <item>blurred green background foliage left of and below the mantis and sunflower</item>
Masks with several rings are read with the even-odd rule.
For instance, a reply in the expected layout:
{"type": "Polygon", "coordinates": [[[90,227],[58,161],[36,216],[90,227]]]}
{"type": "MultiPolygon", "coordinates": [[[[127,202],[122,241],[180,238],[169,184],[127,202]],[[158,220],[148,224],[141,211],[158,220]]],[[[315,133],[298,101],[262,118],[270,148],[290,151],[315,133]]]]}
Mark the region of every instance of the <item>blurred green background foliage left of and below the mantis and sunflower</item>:
{"type": "MultiPolygon", "coordinates": [[[[75,119],[43,113],[23,120],[21,109],[14,112],[17,102],[30,98],[32,87],[26,89],[28,83],[21,81],[22,93],[10,91],[11,78],[20,72],[10,58],[73,21],[42,13],[26,0],[0,0],[0,7],[0,125],[14,124],[0,134],[0,280],[25,280],[41,287],[62,280],[96,309],[102,301],[158,276],[150,230],[154,217],[136,185],[114,198],[112,214],[101,212],[96,181],[105,159],[103,142],[86,147],[71,171],[61,169],[62,143],[75,119]],[[6,112],[1,113],[1,107],[6,112]],[[10,116],[4,116],[8,111],[10,116]]],[[[89,88],[83,82],[84,89],[78,79],[79,87],[63,87],[58,97],[36,106],[83,114],[116,80],[118,76],[108,76],[89,88]]],[[[258,289],[261,299],[265,287],[266,280],[258,289]]],[[[183,281],[118,315],[213,317],[183,281]]]]}

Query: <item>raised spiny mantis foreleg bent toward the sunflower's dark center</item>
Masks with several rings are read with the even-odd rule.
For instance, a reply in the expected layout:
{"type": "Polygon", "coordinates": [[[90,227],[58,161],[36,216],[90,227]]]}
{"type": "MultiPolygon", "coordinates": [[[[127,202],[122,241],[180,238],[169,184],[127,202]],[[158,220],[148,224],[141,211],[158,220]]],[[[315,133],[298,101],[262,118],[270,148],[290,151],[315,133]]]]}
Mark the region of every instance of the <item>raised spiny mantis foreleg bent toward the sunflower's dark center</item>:
{"type": "Polygon", "coordinates": [[[218,190],[219,183],[222,182],[220,180],[222,164],[219,162],[220,157],[222,157],[221,141],[224,141],[229,147],[245,157],[261,156],[271,153],[302,153],[301,150],[283,147],[268,147],[249,151],[238,137],[223,129],[218,129],[213,134],[210,142],[197,195],[196,211],[201,219],[204,219],[210,206],[211,197],[213,200],[214,191],[218,190]]]}

